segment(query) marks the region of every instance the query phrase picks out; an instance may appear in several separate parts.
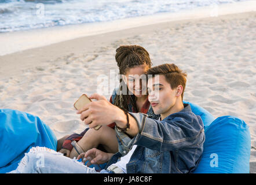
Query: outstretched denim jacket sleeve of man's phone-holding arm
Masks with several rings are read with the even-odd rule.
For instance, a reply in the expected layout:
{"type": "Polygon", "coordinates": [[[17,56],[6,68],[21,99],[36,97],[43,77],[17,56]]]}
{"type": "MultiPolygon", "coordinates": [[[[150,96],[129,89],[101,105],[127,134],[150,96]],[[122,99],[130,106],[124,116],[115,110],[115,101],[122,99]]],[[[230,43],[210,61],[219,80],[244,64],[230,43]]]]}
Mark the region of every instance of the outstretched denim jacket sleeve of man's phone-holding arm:
{"type": "Polygon", "coordinates": [[[195,145],[204,137],[202,120],[193,113],[176,114],[174,119],[164,121],[150,119],[143,113],[130,114],[137,121],[139,133],[130,138],[116,129],[119,151],[122,154],[127,153],[133,145],[151,150],[171,151],[195,145]]]}

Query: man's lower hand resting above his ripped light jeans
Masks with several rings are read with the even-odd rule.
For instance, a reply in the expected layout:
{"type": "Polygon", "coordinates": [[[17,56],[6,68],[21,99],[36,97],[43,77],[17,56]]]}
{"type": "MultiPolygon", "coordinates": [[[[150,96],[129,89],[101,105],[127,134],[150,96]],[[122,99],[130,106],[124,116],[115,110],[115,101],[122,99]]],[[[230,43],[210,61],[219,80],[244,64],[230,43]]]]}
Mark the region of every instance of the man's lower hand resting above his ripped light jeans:
{"type": "Polygon", "coordinates": [[[88,161],[86,165],[90,166],[92,164],[104,164],[108,162],[113,155],[112,153],[105,153],[104,151],[93,148],[86,151],[86,153],[80,154],[77,160],[84,157],[85,161],[83,162],[88,161]]]}

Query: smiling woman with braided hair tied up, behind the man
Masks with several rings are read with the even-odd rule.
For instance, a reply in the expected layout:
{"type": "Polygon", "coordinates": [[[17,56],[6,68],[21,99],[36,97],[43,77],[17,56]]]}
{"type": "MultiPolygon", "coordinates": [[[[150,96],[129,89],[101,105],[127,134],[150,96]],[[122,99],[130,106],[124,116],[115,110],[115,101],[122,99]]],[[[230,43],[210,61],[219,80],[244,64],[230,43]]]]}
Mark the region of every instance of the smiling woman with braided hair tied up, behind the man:
{"type": "MultiPolygon", "coordinates": [[[[147,79],[145,81],[141,78],[152,65],[148,51],[136,45],[120,46],[116,49],[115,59],[119,68],[120,86],[113,91],[110,102],[123,110],[146,113],[149,117],[158,119],[159,115],[153,113],[148,101],[147,79]]],[[[97,147],[108,153],[116,153],[118,141],[114,128],[115,123],[112,123],[98,130],[87,128],[81,134],[73,134],[68,138],[65,136],[66,139],[61,139],[64,143],[58,150],[70,158],[78,156],[76,150],[82,152],[97,147]],[[73,140],[77,142],[75,148],[71,145],[73,140]]],[[[61,146],[61,140],[58,146],[61,146]]]]}

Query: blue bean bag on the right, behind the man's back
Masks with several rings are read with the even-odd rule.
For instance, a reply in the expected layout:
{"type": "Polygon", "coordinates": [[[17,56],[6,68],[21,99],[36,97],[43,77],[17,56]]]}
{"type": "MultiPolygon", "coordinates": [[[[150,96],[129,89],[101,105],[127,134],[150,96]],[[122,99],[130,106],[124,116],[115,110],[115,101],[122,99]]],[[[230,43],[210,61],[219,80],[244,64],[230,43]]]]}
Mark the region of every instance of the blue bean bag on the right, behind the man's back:
{"type": "Polygon", "coordinates": [[[234,116],[214,119],[200,106],[184,103],[201,116],[206,136],[202,158],[193,173],[249,173],[251,136],[248,125],[234,116]]]}

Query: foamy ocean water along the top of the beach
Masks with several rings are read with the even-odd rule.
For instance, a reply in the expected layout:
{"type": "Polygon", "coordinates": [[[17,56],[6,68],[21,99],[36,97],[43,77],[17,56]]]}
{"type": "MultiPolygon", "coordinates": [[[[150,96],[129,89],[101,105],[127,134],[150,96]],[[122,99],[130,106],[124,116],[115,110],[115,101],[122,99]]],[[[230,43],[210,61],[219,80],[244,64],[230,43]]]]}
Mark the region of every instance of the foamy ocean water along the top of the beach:
{"type": "MultiPolygon", "coordinates": [[[[239,0],[0,0],[0,32],[112,21],[239,0]]],[[[240,0],[247,1],[247,0],[240,0]]]]}

